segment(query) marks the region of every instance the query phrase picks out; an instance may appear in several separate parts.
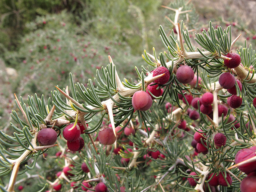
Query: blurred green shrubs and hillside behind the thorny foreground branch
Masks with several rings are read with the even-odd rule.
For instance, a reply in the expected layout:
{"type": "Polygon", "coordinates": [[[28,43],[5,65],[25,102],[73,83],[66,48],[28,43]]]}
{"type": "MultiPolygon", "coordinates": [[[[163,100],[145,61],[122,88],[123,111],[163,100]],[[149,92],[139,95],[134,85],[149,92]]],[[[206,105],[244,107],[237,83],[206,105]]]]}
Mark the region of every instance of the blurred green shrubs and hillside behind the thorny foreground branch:
{"type": "MultiPolygon", "coordinates": [[[[141,54],[164,52],[158,27],[173,28],[173,11],[162,7],[185,4],[192,12],[180,20],[194,33],[213,26],[232,26],[237,46],[256,44],[252,0],[0,0],[0,129],[8,131],[13,94],[51,96],[55,85],[87,84],[108,55],[121,78],[134,78],[134,66],[145,65],[141,54]],[[167,17],[166,17],[167,16],[167,17]]],[[[196,46],[196,45],[195,45],[196,46]]]]}

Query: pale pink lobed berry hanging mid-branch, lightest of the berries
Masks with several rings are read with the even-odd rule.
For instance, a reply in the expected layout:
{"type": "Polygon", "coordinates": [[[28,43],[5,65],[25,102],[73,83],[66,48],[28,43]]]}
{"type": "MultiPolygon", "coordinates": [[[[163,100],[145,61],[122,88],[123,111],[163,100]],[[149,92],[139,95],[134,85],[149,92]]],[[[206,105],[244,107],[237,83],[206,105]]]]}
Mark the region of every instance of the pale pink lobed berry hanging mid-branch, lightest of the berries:
{"type": "Polygon", "coordinates": [[[137,91],[132,96],[132,107],[137,111],[147,111],[152,106],[152,98],[145,91],[137,91]]]}

